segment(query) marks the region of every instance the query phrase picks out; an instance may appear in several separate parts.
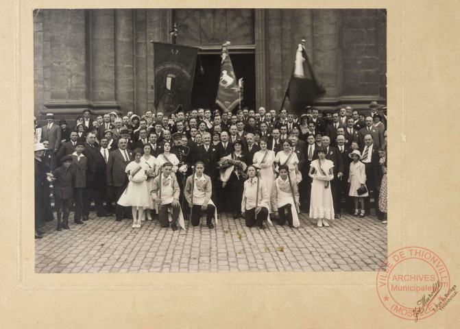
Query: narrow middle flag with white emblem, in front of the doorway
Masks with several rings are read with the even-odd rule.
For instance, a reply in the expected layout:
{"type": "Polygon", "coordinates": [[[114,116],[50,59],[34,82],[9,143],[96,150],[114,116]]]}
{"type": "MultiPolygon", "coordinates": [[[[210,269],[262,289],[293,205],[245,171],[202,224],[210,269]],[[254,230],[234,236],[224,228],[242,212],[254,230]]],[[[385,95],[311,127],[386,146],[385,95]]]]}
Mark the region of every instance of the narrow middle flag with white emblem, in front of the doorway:
{"type": "Polygon", "coordinates": [[[234,75],[232,61],[228,55],[227,46],[230,42],[222,45],[221,77],[219,80],[219,89],[217,90],[216,104],[222,110],[230,112],[240,102],[240,92],[237,77],[234,75]]]}

